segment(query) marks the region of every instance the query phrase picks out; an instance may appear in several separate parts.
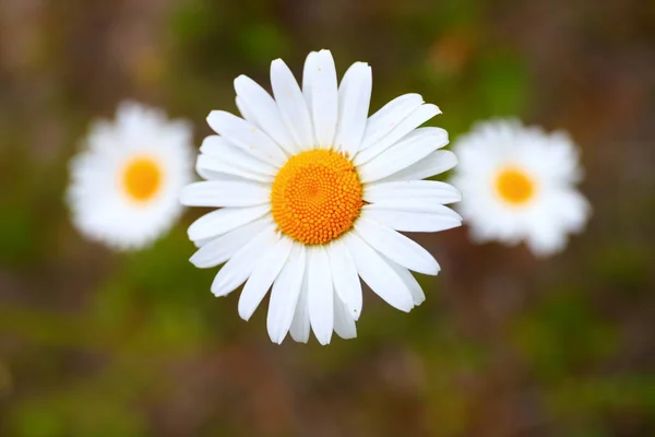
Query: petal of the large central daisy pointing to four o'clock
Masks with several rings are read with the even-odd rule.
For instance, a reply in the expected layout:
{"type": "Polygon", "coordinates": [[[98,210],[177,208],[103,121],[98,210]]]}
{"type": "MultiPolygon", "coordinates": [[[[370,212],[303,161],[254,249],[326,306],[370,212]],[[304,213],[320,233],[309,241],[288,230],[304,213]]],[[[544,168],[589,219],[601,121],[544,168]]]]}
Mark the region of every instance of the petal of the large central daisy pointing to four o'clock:
{"type": "Polygon", "coordinates": [[[398,264],[425,274],[439,273],[437,260],[418,243],[378,222],[359,217],[357,234],[371,247],[398,264]]]}

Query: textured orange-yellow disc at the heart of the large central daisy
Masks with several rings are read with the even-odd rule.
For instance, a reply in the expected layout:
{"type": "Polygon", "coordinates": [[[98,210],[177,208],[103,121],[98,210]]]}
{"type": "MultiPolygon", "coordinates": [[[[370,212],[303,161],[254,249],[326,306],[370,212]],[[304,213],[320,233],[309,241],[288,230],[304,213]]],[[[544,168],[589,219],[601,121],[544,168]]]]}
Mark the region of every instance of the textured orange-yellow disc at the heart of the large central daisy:
{"type": "Polygon", "coordinates": [[[312,150],[282,167],[271,191],[279,229],[306,245],[323,245],[353,227],[362,205],[355,166],[337,152],[312,150]]]}

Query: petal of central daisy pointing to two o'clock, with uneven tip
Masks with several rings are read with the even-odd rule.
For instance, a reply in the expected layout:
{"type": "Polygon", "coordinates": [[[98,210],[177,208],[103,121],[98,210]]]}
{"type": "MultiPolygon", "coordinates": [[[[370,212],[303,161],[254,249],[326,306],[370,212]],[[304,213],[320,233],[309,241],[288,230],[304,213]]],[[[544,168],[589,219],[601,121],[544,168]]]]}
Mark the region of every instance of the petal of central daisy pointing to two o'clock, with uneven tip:
{"type": "Polygon", "coordinates": [[[372,182],[393,175],[448,144],[448,133],[445,131],[430,129],[430,132],[443,132],[443,134],[408,135],[405,140],[382,152],[376,158],[359,166],[358,170],[361,181],[365,184],[372,182]]]}

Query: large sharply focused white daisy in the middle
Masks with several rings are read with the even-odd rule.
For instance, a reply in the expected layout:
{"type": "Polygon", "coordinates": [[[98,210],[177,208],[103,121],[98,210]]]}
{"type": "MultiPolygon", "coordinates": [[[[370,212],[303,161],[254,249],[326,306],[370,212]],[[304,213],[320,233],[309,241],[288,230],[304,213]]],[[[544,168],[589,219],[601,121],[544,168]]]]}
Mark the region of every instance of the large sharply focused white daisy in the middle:
{"type": "Polygon", "coordinates": [[[440,114],[417,94],[368,118],[371,69],[354,63],[337,86],[327,50],[311,52],[302,88],[279,59],[271,64],[274,98],[251,79],[235,80],[243,118],[215,110],[219,135],[204,140],[182,203],[216,206],[189,227],[200,249],[191,262],[221,269],[212,292],[243,282],[239,315],[248,320],[272,287],[267,329],[281,343],[290,330],[321,344],[332,331],[354,338],[361,312],[359,276],[403,311],[425,295],[409,270],[437,274],[428,251],[398,233],[461,224],[443,204],[460,200],[448,184],[421,180],[452,168],[448,133],[420,125],[440,114]]]}

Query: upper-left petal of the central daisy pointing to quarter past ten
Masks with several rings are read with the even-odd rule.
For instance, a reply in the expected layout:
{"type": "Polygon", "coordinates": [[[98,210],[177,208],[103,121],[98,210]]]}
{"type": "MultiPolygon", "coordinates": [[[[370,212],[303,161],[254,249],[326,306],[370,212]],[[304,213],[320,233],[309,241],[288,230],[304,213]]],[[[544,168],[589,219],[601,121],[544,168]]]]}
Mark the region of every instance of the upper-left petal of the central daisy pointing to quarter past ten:
{"type": "Polygon", "coordinates": [[[282,149],[261,129],[224,110],[213,110],[207,123],[221,137],[259,160],[281,167],[287,161],[282,149]]]}

